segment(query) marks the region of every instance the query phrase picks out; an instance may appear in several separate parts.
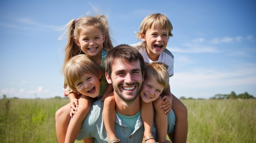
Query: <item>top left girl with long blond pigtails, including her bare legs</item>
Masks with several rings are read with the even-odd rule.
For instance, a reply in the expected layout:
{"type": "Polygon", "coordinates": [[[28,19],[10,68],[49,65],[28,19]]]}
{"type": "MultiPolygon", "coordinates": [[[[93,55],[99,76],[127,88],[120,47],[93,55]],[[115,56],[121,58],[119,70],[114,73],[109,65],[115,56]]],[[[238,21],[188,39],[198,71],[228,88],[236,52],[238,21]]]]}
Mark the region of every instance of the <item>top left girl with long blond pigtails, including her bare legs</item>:
{"type": "MultiPolygon", "coordinates": [[[[104,73],[104,59],[108,51],[113,48],[109,35],[107,18],[104,15],[95,17],[85,16],[80,19],[71,20],[66,27],[67,26],[68,28],[65,33],[68,33],[68,40],[65,47],[64,65],[72,57],[79,54],[85,54],[101,66],[101,70],[104,73]]],[[[113,90],[112,85],[107,83],[104,74],[101,76],[100,89],[101,92],[99,95],[102,95],[103,99],[113,90]]],[[[70,117],[74,117],[73,115],[78,111],[78,106],[81,105],[81,103],[78,104],[79,94],[69,88],[67,82],[64,82],[64,92],[65,96],[69,97],[70,103],[56,112],[56,134],[59,143],[63,143],[64,141],[74,142],[74,139],[81,128],[81,123],[78,123],[77,121],[74,121],[76,124],[69,125],[70,117]]],[[[84,107],[87,111],[84,112],[85,116],[88,114],[92,103],[93,101],[88,99],[87,106],[84,107]]],[[[78,118],[79,117],[76,117],[76,119],[78,118]]],[[[83,119],[81,120],[83,121],[83,119]]],[[[93,139],[84,139],[84,142],[93,143],[93,139]]]]}

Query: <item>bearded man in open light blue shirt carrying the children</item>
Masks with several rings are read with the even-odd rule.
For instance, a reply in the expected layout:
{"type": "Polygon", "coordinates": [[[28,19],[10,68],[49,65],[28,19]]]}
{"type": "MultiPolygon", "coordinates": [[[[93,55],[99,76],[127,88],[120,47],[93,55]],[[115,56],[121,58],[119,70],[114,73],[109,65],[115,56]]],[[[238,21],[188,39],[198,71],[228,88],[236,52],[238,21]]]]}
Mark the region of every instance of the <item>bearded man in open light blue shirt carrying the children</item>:
{"type": "MultiPolygon", "coordinates": [[[[128,45],[119,45],[108,52],[104,64],[106,79],[114,89],[117,138],[121,143],[141,143],[144,126],[140,117],[140,97],[138,95],[144,81],[144,59],[134,48],[128,45]]],[[[94,143],[108,142],[102,110],[103,101],[101,99],[92,104],[76,139],[94,137],[94,143]]],[[[174,112],[168,115],[168,127],[168,133],[172,133],[175,127],[174,112]]],[[[153,136],[157,139],[155,128],[153,128],[153,136]]]]}

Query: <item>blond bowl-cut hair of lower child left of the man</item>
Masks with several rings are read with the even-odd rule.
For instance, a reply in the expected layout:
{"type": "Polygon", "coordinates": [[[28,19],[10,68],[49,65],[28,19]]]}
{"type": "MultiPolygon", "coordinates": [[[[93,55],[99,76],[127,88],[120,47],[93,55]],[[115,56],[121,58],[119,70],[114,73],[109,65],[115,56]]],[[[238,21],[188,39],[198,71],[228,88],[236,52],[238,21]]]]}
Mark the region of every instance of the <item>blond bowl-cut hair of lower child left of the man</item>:
{"type": "Polygon", "coordinates": [[[100,78],[102,75],[101,67],[92,59],[84,54],[76,55],[69,59],[63,67],[63,75],[68,86],[77,92],[75,82],[81,79],[85,73],[92,73],[100,78]]]}

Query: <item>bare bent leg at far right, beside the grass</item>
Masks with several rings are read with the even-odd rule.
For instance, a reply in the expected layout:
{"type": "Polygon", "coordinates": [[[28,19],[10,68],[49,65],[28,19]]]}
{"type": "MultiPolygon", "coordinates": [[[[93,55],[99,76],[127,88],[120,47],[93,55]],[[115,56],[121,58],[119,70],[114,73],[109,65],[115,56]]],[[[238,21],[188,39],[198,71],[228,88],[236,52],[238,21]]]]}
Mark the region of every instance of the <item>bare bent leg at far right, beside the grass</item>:
{"type": "Polygon", "coordinates": [[[186,106],[173,95],[172,108],[176,116],[174,134],[168,134],[174,143],[186,143],[188,134],[188,111],[186,106]]]}

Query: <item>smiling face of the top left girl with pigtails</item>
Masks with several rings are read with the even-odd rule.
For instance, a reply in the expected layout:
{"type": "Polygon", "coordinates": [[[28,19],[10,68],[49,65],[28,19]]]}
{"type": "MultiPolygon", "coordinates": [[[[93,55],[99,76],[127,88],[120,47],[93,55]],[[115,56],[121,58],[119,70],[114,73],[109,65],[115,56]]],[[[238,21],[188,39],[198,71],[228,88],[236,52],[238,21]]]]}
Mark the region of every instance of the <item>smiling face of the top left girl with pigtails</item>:
{"type": "Polygon", "coordinates": [[[79,39],[74,38],[74,41],[85,55],[97,56],[101,54],[105,36],[102,35],[100,29],[90,27],[81,29],[79,39]]]}

